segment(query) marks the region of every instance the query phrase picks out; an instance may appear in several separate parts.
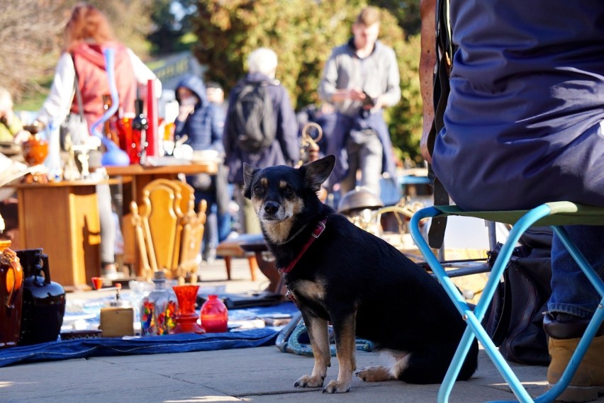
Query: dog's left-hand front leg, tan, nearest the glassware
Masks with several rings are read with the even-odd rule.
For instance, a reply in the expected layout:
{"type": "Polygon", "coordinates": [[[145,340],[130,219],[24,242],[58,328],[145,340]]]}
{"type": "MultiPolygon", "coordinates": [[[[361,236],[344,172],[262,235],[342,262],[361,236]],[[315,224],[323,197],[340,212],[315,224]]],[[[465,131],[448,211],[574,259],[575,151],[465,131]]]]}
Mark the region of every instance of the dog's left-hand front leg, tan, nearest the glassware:
{"type": "Polygon", "coordinates": [[[311,339],[313,356],[315,357],[315,366],[311,375],[303,375],[296,381],[296,387],[321,387],[327,375],[327,368],[331,364],[331,353],[329,349],[328,321],[318,317],[310,317],[308,314],[302,314],[304,324],[308,330],[308,336],[311,339]]]}

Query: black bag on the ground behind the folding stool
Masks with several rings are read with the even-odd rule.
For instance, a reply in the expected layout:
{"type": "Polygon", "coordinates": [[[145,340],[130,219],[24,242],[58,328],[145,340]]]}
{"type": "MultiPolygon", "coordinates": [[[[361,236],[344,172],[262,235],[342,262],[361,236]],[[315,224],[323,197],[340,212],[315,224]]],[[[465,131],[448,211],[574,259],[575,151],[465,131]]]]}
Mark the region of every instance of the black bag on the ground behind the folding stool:
{"type": "MultiPolygon", "coordinates": [[[[503,272],[483,326],[506,360],[549,365],[543,314],[552,294],[552,232],[531,229],[520,243],[503,272]]],[[[500,246],[488,254],[491,266],[500,246]]]]}

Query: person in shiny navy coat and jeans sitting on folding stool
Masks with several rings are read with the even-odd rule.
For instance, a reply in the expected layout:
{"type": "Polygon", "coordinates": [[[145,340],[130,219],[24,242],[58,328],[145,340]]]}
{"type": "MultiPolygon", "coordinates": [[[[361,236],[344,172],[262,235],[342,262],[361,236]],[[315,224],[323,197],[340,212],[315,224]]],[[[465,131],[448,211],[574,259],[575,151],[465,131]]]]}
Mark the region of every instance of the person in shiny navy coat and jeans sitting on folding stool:
{"type": "MultiPolygon", "coordinates": [[[[452,200],[464,210],[528,209],[558,200],[604,207],[604,2],[450,1],[449,15],[439,13],[448,4],[421,1],[420,85],[422,154],[452,200]],[[447,42],[435,37],[437,18],[450,21],[451,48],[458,49],[441,60],[450,72],[441,84],[450,91],[431,150],[435,107],[442,110],[432,99],[438,95],[433,75],[437,55],[447,51],[436,48],[437,40],[447,42]]],[[[564,229],[603,276],[604,227],[564,229]]],[[[551,257],[544,330],[547,381],[554,385],[600,296],[557,234],[551,257]]],[[[598,392],[604,392],[604,325],[557,402],[588,402],[598,392]]]]}

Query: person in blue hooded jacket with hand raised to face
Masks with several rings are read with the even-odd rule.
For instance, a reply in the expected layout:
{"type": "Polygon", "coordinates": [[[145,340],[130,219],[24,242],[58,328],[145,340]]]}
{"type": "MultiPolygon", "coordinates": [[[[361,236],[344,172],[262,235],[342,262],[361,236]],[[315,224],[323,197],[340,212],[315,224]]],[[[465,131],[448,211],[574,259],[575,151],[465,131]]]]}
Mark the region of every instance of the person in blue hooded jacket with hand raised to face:
{"type": "MultiPolygon", "coordinates": [[[[182,79],[176,89],[179,115],[174,124],[174,140],[186,135],[185,144],[196,150],[213,149],[224,157],[223,127],[225,115],[216,104],[208,101],[206,86],[198,76],[189,75],[182,79]]],[[[228,183],[223,166],[218,174],[191,175],[186,182],[195,189],[195,205],[203,199],[208,203],[206,229],[203,232],[203,259],[216,258],[216,246],[230,232],[228,215],[228,183]]]]}

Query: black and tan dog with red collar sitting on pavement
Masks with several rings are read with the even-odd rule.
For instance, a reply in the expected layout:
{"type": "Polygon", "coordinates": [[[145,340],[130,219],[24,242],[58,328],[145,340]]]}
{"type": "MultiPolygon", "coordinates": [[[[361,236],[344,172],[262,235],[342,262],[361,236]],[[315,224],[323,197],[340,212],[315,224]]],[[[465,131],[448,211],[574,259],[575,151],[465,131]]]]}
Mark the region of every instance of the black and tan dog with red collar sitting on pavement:
{"type": "MultiPolygon", "coordinates": [[[[347,392],[356,369],[355,335],[396,359],[392,368],[359,370],[366,381],[442,382],[464,331],[462,317],[443,288],[400,251],[354,226],[317,192],[335,157],[293,169],[244,164],[244,195],[311,337],[315,365],[300,387],[321,387],[330,366],[328,322],[335,335],[340,372],[323,392],[347,392]]],[[[476,370],[478,345],[459,374],[476,370]]]]}

